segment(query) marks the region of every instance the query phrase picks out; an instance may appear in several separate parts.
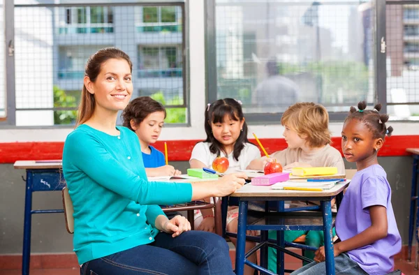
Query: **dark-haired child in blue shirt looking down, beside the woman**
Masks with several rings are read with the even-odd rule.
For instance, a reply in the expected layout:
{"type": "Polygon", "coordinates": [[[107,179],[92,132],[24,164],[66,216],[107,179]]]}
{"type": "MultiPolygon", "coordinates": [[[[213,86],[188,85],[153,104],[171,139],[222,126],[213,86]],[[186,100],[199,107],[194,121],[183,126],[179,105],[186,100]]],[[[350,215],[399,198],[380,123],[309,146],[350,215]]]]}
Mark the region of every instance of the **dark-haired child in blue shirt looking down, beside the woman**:
{"type": "Polygon", "coordinates": [[[166,119],[166,110],[149,96],[140,96],[131,101],[122,113],[123,125],[134,131],[140,140],[142,160],[148,177],[181,174],[172,165],[165,165],[161,151],[152,147],[160,136],[166,119]]]}

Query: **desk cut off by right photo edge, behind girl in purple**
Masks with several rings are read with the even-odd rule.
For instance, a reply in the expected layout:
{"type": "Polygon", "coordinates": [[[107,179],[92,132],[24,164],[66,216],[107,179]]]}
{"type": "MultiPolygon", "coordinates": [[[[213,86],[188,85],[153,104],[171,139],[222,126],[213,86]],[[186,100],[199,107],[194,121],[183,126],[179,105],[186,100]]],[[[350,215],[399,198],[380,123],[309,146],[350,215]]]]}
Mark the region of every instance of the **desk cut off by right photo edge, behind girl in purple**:
{"type": "MultiPolygon", "coordinates": [[[[409,243],[408,252],[407,252],[407,260],[411,260],[411,252],[412,252],[412,239],[413,239],[413,226],[415,222],[415,210],[416,205],[418,202],[419,196],[419,188],[418,188],[418,174],[419,174],[419,148],[407,148],[406,151],[413,155],[413,170],[412,170],[412,186],[411,186],[411,209],[409,214],[409,243]]],[[[419,211],[418,211],[419,214],[419,211]]],[[[416,215],[418,215],[416,214],[416,215]]],[[[418,238],[418,216],[416,216],[416,239],[419,242],[418,238]]],[[[418,255],[418,251],[416,251],[416,255],[418,255]]],[[[418,268],[418,256],[416,256],[415,267],[418,268]]]]}

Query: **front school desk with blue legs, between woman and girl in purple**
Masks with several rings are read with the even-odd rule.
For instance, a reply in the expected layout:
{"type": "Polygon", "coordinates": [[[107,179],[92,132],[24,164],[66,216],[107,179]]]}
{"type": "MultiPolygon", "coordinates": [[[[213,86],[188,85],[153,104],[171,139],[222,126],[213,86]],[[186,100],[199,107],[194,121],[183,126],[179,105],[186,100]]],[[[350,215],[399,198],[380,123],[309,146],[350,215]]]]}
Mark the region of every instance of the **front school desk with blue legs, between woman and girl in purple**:
{"type": "MultiPolygon", "coordinates": [[[[284,269],[284,230],[322,230],[325,237],[326,271],[327,274],[335,274],[335,260],[332,245],[332,218],[331,201],[339,195],[337,201],[340,202],[344,188],[348,186],[348,181],[339,182],[335,187],[327,191],[291,191],[291,190],[272,190],[270,186],[253,186],[247,184],[231,194],[231,197],[239,198],[239,218],[237,229],[237,246],[235,272],[242,275],[244,265],[250,265],[266,274],[274,274],[266,269],[267,267],[267,246],[279,248],[277,253],[277,272],[284,274],[289,272],[284,269]],[[284,211],[284,207],[278,212],[256,212],[249,211],[248,202],[255,200],[263,201],[284,201],[284,200],[309,200],[321,202],[321,215],[316,213],[302,213],[284,211]],[[247,255],[244,255],[246,244],[246,230],[261,230],[262,241],[247,255]],[[267,239],[267,230],[277,230],[277,243],[274,244],[267,239]],[[261,249],[260,266],[246,260],[247,256],[261,249]]],[[[293,253],[289,253],[293,254],[293,253]]]]}

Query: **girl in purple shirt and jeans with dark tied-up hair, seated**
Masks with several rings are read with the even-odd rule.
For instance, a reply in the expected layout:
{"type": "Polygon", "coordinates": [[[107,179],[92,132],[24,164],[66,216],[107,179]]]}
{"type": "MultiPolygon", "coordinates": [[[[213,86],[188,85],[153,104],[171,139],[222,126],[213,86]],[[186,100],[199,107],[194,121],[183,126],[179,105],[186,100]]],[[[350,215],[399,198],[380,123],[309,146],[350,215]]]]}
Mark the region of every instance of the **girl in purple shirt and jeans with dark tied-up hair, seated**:
{"type": "MultiPolygon", "coordinates": [[[[392,127],[385,127],[388,114],[379,114],[381,105],[358,111],[351,107],[342,129],[342,151],[347,161],[355,162],[357,172],[344,195],[336,217],[335,270],[345,274],[388,274],[394,255],[402,249],[391,205],[387,174],[378,164],[377,152],[392,127]]],[[[292,274],[325,274],[325,250],[316,251],[316,262],[292,274]],[[319,262],[319,263],[317,263],[319,262]]]]}

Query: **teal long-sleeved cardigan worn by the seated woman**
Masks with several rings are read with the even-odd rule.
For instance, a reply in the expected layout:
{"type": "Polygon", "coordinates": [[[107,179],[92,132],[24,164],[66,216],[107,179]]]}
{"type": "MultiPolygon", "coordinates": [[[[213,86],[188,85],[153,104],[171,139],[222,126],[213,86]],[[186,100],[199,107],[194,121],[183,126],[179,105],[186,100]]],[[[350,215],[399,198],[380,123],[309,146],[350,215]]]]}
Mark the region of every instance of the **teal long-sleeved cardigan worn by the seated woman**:
{"type": "Polygon", "coordinates": [[[191,184],[147,181],[137,135],[117,129],[119,135],[108,135],[82,124],[64,144],[80,265],[151,243],[159,233],[154,222],[164,215],[158,205],[191,201],[191,184]]]}

